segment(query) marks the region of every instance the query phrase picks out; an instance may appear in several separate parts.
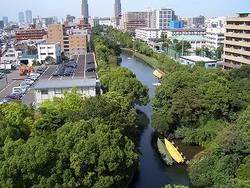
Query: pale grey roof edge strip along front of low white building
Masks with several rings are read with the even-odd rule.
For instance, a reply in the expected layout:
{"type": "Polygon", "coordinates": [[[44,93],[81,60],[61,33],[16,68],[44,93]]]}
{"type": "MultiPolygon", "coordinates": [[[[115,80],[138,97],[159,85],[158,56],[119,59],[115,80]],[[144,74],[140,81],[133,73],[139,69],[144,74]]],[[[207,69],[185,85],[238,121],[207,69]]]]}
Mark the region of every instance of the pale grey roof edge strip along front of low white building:
{"type": "Polygon", "coordinates": [[[78,79],[78,80],[40,80],[35,85],[35,90],[41,89],[61,89],[74,87],[95,87],[96,79],[78,79]]]}

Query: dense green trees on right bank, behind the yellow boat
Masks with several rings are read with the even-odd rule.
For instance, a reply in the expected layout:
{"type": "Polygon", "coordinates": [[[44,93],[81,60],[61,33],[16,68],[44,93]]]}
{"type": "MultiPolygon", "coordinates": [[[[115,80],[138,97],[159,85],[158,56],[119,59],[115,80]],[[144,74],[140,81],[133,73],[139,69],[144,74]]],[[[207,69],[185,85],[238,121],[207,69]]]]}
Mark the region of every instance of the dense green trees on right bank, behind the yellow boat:
{"type": "Polygon", "coordinates": [[[192,184],[249,186],[250,66],[228,72],[178,67],[161,83],[154,127],[205,148],[189,165],[192,184]]]}

